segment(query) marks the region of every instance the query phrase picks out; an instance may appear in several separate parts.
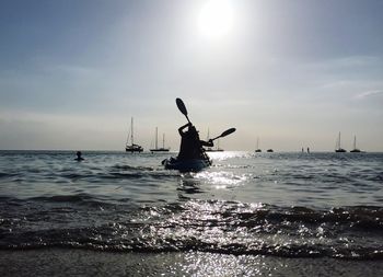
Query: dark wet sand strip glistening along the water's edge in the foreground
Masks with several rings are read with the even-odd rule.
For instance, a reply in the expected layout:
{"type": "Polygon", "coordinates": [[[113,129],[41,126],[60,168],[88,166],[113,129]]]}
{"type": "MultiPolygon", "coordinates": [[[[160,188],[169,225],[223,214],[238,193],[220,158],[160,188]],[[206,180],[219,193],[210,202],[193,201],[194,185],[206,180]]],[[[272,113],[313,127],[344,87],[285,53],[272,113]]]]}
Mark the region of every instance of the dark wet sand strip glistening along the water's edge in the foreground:
{"type": "Polygon", "coordinates": [[[383,261],[202,252],[0,251],[0,276],[380,276],[383,261]]]}

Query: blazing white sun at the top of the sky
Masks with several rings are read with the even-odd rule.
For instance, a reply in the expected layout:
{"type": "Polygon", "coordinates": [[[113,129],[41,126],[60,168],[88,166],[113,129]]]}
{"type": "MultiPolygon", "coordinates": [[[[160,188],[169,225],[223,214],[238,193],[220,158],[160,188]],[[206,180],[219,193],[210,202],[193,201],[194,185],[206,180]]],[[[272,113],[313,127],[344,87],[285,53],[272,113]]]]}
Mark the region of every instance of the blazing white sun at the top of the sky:
{"type": "Polygon", "coordinates": [[[200,10],[198,27],[207,38],[221,38],[233,26],[233,8],[228,0],[209,0],[200,10]]]}

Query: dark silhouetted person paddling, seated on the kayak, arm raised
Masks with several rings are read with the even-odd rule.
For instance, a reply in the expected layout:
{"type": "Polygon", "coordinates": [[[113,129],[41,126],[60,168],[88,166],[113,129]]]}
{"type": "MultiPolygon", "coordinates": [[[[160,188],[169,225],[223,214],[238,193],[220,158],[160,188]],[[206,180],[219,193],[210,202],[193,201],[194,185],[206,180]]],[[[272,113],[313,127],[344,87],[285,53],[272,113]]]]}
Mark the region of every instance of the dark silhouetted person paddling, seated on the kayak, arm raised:
{"type": "Polygon", "coordinates": [[[212,139],[209,139],[209,141],[200,140],[198,131],[192,123],[179,127],[178,132],[181,135],[179,160],[208,159],[202,146],[213,147],[212,139]],[[184,131],[186,127],[188,127],[188,129],[184,131]]]}

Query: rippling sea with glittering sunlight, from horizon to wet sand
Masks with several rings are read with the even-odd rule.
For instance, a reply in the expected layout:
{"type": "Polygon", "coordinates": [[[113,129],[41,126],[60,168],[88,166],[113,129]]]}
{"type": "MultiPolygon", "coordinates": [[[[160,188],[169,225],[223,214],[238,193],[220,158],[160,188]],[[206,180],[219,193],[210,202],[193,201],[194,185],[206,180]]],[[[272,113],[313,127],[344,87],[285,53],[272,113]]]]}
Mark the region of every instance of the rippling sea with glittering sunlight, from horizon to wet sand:
{"type": "Polygon", "coordinates": [[[383,259],[382,153],[0,151],[0,250],[383,259]]]}

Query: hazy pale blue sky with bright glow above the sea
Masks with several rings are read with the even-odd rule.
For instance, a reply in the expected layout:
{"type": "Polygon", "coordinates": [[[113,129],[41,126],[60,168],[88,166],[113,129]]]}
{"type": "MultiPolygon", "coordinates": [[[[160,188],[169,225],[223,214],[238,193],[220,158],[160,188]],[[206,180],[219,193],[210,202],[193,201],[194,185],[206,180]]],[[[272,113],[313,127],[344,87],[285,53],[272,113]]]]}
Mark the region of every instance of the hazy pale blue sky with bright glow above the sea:
{"type": "Polygon", "coordinates": [[[207,2],[1,1],[0,149],[177,150],[182,97],[228,150],[383,151],[383,1],[207,2]]]}

